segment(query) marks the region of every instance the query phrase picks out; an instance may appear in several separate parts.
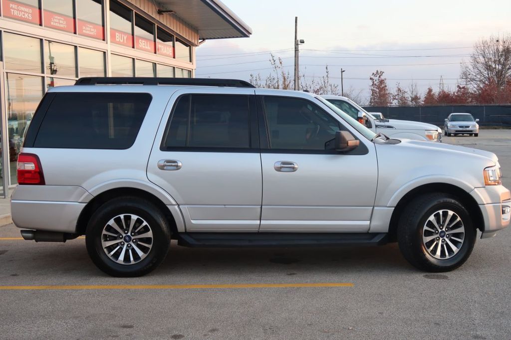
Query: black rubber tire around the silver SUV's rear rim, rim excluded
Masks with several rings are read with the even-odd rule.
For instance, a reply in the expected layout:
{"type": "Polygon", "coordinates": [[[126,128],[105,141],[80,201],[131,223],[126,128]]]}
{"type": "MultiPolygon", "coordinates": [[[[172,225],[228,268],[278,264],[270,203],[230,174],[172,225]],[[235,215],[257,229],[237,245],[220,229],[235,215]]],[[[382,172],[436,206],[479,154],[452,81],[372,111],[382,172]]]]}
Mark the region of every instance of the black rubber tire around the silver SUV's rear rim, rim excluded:
{"type": "Polygon", "coordinates": [[[100,270],[116,277],[137,277],[153,271],[165,259],[170,247],[171,228],[164,213],[151,202],[136,197],[124,197],[113,199],[99,207],[91,216],[85,235],[90,259],[100,270]],[[103,228],[111,218],[120,214],[140,216],[152,231],[150,250],[144,255],[145,258],[133,264],[117,263],[103,251],[103,228]]]}

